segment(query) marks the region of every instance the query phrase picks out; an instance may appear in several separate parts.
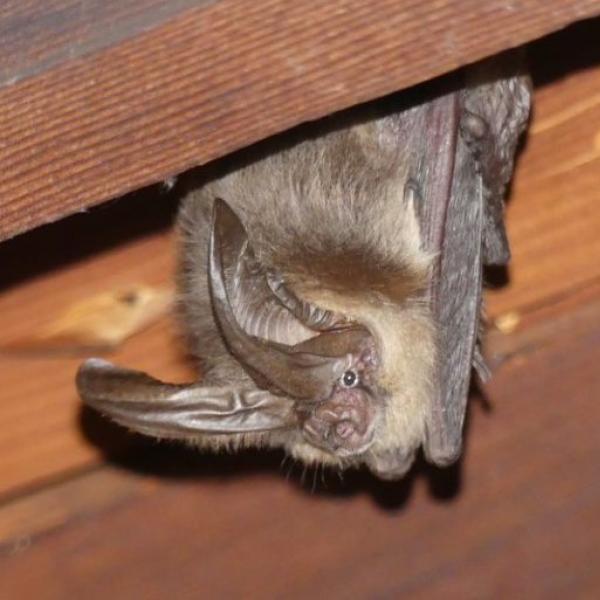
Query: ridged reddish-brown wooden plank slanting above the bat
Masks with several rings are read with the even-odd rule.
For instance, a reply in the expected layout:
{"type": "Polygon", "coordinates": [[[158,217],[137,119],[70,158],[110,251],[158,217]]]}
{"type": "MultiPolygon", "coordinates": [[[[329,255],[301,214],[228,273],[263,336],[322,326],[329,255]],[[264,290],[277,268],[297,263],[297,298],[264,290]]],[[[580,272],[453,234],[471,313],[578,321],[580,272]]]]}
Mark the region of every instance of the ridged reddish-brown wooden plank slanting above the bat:
{"type": "Polygon", "coordinates": [[[0,239],[600,13],[598,0],[307,6],[220,0],[0,89],[0,239]]]}

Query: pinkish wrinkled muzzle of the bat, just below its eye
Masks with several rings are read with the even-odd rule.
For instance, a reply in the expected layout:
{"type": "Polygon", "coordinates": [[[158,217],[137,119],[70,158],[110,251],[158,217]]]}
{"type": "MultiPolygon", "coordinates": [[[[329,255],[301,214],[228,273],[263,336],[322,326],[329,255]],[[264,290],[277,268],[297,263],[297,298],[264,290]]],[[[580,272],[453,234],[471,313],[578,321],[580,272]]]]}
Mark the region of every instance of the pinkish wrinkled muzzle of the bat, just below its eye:
{"type": "Polygon", "coordinates": [[[373,443],[377,410],[364,389],[340,390],[302,423],[304,438],[339,457],[362,454],[373,443]]]}

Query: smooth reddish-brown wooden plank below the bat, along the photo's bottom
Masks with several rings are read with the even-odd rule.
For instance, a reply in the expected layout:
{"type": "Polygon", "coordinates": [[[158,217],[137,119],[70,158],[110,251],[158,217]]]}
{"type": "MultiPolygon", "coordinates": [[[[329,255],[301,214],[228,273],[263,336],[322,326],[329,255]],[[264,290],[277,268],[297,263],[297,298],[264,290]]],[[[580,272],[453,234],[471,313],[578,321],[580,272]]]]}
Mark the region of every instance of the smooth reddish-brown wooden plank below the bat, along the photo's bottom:
{"type": "MultiPolygon", "coordinates": [[[[599,336],[595,318],[506,363],[492,410],[472,405],[468,452],[450,471],[400,484],[333,477],[311,493],[281,477],[277,456],[232,468],[163,448],[159,464],[155,454],[134,467],[150,468],[131,477],[150,487],[58,525],[16,501],[7,509],[30,515],[31,535],[3,546],[3,597],[595,597],[599,336]]],[[[106,474],[82,487],[94,477],[106,474]]]]}

